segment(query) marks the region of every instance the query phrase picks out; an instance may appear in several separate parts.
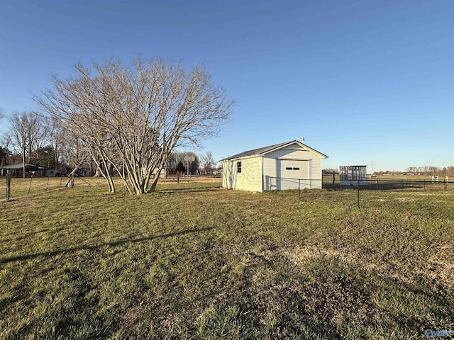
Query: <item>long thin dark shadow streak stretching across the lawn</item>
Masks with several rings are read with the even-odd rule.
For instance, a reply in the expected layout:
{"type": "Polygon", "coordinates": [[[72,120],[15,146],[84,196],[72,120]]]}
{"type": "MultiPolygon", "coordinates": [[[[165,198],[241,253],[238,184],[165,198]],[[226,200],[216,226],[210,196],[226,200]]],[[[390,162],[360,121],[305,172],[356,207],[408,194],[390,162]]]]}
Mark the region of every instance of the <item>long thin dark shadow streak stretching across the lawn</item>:
{"type": "Polygon", "coordinates": [[[171,232],[169,234],[162,234],[162,235],[157,235],[157,236],[140,237],[138,239],[118,239],[114,242],[106,242],[106,243],[102,243],[102,244],[96,244],[93,246],[89,246],[89,245],[75,246],[73,248],[67,248],[67,249],[59,249],[59,250],[54,250],[54,251],[43,251],[40,253],[26,254],[26,255],[20,255],[20,256],[11,256],[11,257],[5,257],[4,259],[0,259],[0,263],[9,263],[9,262],[13,262],[13,261],[24,261],[24,260],[29,260],[29,259],[35,259],[40,256],[45,256],[45,257],[55,256],[58,254],[72,253],[74,251],[79,251],[79,250],[93,250],[93,249],[99,249],[102,246],[119,246],[121,244],[126,244],[126,243],[137,243],[137,242],[149,241],[151,239],[163,239],[165,237],[174,237],[174,236],[179,236],[179,235],[184,235],[184,234],[191,234],[191,233],[195,233],[195,232],[207,232],[212,229],[214,229],[214,227],[182,230],[180,232],[171,232]]]}

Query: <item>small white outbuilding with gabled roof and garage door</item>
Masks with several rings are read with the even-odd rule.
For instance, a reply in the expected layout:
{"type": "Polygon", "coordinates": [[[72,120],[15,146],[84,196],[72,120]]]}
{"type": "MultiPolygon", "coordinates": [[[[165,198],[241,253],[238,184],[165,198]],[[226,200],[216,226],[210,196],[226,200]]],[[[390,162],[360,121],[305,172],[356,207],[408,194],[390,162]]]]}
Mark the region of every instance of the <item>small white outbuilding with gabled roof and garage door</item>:
{"type": "Polygon", "coordinates": [[[221,159],[222,186],[244,191],[321,188],[321,160],[328,158],[299,140],[221,159]]]}

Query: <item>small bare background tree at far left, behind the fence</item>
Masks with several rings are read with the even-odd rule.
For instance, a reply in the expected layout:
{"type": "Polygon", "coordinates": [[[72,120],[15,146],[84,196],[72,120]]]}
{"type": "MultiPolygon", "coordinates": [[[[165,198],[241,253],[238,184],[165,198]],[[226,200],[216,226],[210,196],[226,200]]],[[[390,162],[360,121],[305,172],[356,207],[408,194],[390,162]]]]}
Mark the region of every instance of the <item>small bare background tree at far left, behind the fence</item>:
{"type": "Polygon", "coordinates": [[[31,159],[33,149],[42,145],[45,136],[45,125],[40,116],[33,112],[13,112],[9,117],[11,123],[11,137],[16,149],[21,150],[23,163],[23,177],[26,177],[26,157],[31,159]]]}

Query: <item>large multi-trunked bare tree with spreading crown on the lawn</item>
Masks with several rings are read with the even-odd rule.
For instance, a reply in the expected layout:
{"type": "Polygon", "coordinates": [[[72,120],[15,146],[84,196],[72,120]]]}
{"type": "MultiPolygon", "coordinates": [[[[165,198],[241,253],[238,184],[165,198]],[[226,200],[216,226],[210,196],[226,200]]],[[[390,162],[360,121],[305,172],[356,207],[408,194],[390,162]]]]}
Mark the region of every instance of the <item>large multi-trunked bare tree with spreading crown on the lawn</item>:
{"type": "MultiPolygon", "coordinates": [[[[187,72],[179,62],[139,59],[133,67],[108,60],[74,69],[77,77],[53,77],[54,89],[35,101],[85,143],[97,166],[115,169],[130,193],[154,191],[172,149],[216,135],[233,106],[204,67],[187,72]]],[[[115,191],[109,171],[102,175],[115,191]]]]}

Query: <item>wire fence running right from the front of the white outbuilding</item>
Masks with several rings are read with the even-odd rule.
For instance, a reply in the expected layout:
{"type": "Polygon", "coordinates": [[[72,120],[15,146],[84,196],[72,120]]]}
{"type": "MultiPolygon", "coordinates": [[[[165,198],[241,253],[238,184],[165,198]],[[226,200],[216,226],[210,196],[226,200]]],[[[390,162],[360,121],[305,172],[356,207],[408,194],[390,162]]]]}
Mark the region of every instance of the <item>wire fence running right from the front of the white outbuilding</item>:
{"type": "MultiPolygon", "coordinates": [[[[361,179],[341,181],[338,176],[323,179],[286,179],[264,176],[266,191],[291,190],[299,200],[316,200],[310,189],[331,193],[331,200],[358,208],[417,205],[418,207],[454,208],[454,181],[447,179],[361,179]]],[[[326,196],[320,196],[326,199],[326,196]]]]}

